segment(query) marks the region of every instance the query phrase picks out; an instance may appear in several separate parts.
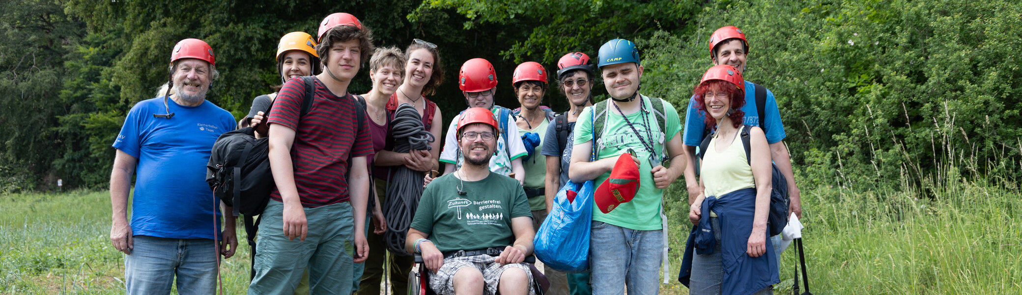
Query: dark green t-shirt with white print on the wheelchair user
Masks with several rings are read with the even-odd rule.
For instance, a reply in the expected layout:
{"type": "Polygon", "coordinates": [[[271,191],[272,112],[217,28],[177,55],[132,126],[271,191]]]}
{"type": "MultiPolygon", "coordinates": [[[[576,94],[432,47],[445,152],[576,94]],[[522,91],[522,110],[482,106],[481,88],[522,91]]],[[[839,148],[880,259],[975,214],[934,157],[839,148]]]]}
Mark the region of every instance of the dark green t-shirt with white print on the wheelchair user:
{"type": "Polygon", "coordinates": [[[518,180],[491,172],[478,181],[455,173],[426,185],[412,228],[429,235],[440,252],[504,248],[514,244],[511,218],[532,217],[518,180]],[[465,195],[458,194],[463,187],[465,195]]]}

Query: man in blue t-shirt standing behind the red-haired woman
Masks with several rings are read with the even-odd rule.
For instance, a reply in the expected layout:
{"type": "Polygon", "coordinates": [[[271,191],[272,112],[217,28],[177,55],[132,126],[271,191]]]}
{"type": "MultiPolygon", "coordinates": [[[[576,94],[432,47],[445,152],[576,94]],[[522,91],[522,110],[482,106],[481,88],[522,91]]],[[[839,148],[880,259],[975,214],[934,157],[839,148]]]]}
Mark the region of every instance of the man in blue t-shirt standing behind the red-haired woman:
{"type": "MultiPolygon", "coordinates": [[[[734,26],[717,29],[709,39],[710,58],[713,65],[729,65],[745,74],[745,62],[748,58],[749,46],[745,39],[745,33],[734,26]]],[[[746,76],[747,78],[747,76],[746,76]]],[[[761,121],[765,126],[759,126],[766,133],[766,142],[770,143],[771,157],[777,167],[788,180],[788,195],[791,197],[789,210],[795,213],[798,218],[802,218],[802,202],[798,186],[795,185],[795,177],[791,170],[791,158],[788,155],[788,146],[784,144],[784,125],[781,123],[781,113],[777,108],[777,100],[774,93],[766,90],[766,101],[764,106],[756,106],[755,83],[745,80],[745,112],[746,125],[759,126],[761,121]],[[759,109],[765,108],[763,117],[759,118],[759,109]]],[[[689,165],[685,169],[685,181],[689,191],[689,205],[699,195],[699,182],[696,181],[695,164],[696,146],[702,142],[705,135],[706,123],[703,114],[700,114],[695,107],[695,100],[690,99],[688,114],[685,116],[685,153],[687,153],[689,165]]],[[[779,246],[780,235],[774,237],[774,245],[779,246]]],[[[778,249],[780,250],[780,249],[778,249]]],[[[778,251],[780,253],[780,251],[778,251]]]]}

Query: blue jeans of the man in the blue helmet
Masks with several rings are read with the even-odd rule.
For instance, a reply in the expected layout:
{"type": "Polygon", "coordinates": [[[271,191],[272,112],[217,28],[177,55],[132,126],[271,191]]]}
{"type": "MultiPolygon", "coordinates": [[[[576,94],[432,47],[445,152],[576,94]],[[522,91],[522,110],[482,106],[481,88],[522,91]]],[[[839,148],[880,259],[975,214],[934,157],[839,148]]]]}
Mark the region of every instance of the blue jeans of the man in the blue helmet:
{"type": "Polygon", "coordinates": [[[593,220],[589,255],[593,294],[658,294],[663,231],[593,220]]]}

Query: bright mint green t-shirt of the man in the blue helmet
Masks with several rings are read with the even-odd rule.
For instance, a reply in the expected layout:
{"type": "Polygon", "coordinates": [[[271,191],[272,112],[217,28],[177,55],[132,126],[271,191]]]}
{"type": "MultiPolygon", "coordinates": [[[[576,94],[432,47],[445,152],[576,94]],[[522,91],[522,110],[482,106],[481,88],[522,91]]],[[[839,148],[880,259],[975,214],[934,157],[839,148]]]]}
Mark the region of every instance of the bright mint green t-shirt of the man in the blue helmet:
{"type": "MultiPolygon", "coordinates": [[[[648,96],[643,95],[642,98],[643,103],[646,104],[645,109],[648,111],[645,114],[648,117],[649,125],[647,126],[645,124],[646,121],[643,120],[643,112],[631,114],[628,116],[628,119],[632,121],[633,126],[642,134],[643,138],[646,138],[646,142],[650,142],[650,139],[653,139],[653,149],[658,157],[661,154],[665,156],[666,152],[663,149],[663,144],[670,141],[681,131],[681,120],[678,118],[678,111],[675,111],[675,106],[671,106],[667,100],[663,100],[664,117],[667,120],[664,128],[667,129],[667,132],[664,132],[666,136],[661,137],[660,132],[656,130],[659,129],[659,125],[656,121],[656,115],[653,114],[653,104],[650,102],[648,96]],[[661,138],[663,139],[662,141],[660,140],[661,138]]],[[[593,144],[593,149],[597,149],[598,151],[596,158],[597,160],[614,158],[626,153],[629,149],[636,151],[640,159],[639,192],[636,193],[636,197],[631,202],[617,206],[607,214],[596,209],[594,204],[593,220],[639,230],[661,229],[660,198],[663,196],[663,189],[656,188],[656,184],[653,184],[653,173],[651,172],[653,167],[660,165],[660,163],[657,162],[651,165],[649,159],[650,151],[647,151],[642,141],[636,136],[636,132],[632,130],[632,127],[629,127],[629,124],[625,123],[621,115],[616,113],[614,106],[609,103],[608,101],[603,135],[600,136],[603,146],[601,149],[598,144],[593,144]]],[[[592,107],[588,107],[578,115],[578,121],[575,123],[574,129],[574,144],[593,140],[592,109],[592,107]]],[[[594,184],[602,184],[603,180],[607,179],[607,177],[610,177],[610,172],[596,177],[594,184]]]]}

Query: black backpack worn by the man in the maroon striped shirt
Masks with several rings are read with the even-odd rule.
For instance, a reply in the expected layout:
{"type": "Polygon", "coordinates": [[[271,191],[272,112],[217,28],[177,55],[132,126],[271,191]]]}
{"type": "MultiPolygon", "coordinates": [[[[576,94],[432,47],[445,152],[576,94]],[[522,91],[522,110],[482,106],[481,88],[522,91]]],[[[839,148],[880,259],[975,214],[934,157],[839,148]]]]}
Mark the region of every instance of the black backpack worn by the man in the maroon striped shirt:
{"type": "MultiPolygon", "coordinates": [[[[301,99],[299,122],[301,117],[309,114],[316,96],[313,76],[301,77],[301,80],[306,86],[306,95],[301,99]]],[[[355,112],[361,126],[365,120],[366,102],[360,95],[355,97],[357,110],[363,111],[355,112]]],[[[270,109],[273,109],[272,104],[270,109]]],[[[270,110],[265,114],[270,114],[270,110]]],[[[225,132],[213,144],[210,162],[205,167],[205,181],[213,188],[214,195],[234,208],[232,216],[244,215],[245,235],[248,237],[252,257],[256,257],[256,233],[259,230],[259,219],[253,220],[253,216],[263,214],[266,205],[270,203],[270,193],[276,186],[270,171],[269,140],[269,137],[256,138],[251,127],[225,132]]],[[[250,275],[254,277],[254,269],[250,275]]]]}

